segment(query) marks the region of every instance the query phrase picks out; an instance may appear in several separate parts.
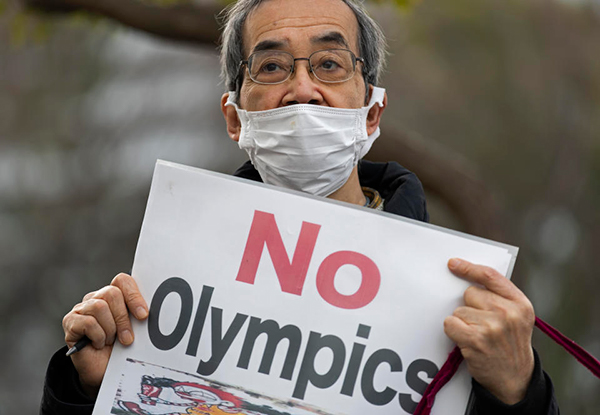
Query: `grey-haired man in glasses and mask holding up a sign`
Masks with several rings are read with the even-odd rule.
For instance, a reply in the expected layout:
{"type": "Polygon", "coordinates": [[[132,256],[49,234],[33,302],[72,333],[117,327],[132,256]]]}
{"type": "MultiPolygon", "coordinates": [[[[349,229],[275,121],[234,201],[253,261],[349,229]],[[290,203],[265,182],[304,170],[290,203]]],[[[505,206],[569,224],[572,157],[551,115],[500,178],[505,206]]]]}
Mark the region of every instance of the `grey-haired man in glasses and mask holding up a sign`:
{"type": "MultiPolygon", "coordinates": [[[[236,175],[426,221],[412,173],[359,161],[387,105],[376,87],[384,55],[381,31],[354,0],[239,0],[221,57],[227,132],[251,161],[236,175]]],[[[444,322],[473,377],[469,413],[558,413],[531,346],[531,303],[492,269],[458,259],[448,266],[478,285],[444,322]]],[[[84,335],[91,345],[54,355],[42,414],[91,413],[114,342],[134,341],[129,313],[144,319],[148,307],[135,281],[119,274],[65,316],[67,345],[84,335]]]]}

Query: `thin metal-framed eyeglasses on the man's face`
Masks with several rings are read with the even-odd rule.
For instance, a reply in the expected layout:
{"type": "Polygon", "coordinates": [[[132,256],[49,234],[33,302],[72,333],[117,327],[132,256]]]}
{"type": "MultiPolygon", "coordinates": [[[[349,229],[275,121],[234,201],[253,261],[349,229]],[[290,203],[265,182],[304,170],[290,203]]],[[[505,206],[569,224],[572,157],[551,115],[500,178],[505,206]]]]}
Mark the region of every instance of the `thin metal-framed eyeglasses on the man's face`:
{"type": "Polygon", "coordinates": [[[357,58],[348,49],[318,50],[308,58],[294,58],[291,53],[281,50],[261,50],[251,54],[248,60],[241,61],[240,68],[246,65],[250,79],[257,84],[273,85],[288,80],[296,61],[308,61],[315,78],[327,83],[345,82],[354,76],[356,61],[365,64],[363,58],[357,58]]]}

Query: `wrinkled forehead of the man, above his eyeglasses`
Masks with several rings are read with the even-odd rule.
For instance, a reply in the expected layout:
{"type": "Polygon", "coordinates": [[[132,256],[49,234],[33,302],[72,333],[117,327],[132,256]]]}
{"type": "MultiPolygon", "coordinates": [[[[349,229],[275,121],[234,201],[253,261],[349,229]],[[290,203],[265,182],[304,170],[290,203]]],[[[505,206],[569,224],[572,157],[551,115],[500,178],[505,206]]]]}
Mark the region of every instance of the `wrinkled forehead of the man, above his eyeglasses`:
{"type": "Polygon", "coordinates": [[[259,44],[309,50],[329,43],[358,54],[358,22],[342,0],[265,0],[248,16],[243,36],[246,56],[259,44]]]}

